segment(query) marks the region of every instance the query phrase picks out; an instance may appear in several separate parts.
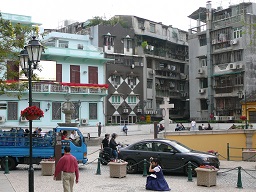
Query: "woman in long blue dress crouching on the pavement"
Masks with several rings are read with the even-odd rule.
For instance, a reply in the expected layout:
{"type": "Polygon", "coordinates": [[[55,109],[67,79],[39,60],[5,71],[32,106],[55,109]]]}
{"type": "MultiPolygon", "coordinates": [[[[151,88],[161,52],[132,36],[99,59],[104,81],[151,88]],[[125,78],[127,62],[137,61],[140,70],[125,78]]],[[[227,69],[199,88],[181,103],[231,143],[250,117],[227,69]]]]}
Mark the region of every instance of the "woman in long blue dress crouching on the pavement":
{"type": "Polygon", "coordinates": [[[153,158],[150,162],[149,172],[152,173],[147,177],[146,189],[154,191],[170,191],[168,183],[164,178],[164,174],[157,158],[153,158]]]}

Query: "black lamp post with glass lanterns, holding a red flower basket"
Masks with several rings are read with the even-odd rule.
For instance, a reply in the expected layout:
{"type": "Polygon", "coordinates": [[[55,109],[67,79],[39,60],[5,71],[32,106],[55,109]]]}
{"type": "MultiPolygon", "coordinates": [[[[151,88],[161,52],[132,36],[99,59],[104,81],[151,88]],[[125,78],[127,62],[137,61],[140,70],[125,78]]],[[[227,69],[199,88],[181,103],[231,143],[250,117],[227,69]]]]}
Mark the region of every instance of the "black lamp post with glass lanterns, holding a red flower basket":
{"type": "MultiPolygon", "coordinates": [[[[29,107],[32,106],[32,83],[31,76],[32,70],[37,68],[38,62],[40,62],[41,54],[43,51],[43,46],[36,40],[33,36],[32,40],[29,41],[28,45],[25,46],[20,52],[20,65],[28,78],[28,89],[29,89],[29,107]],[[31,65],[33,64],[33,69],[31,65]]],[[[34,168],[33,168],[33,151],[32,151],[32,120],[29,120],[29,169],[28,169],[28,182],[29,182],[29,192],[34,192],[34,168]]]]}

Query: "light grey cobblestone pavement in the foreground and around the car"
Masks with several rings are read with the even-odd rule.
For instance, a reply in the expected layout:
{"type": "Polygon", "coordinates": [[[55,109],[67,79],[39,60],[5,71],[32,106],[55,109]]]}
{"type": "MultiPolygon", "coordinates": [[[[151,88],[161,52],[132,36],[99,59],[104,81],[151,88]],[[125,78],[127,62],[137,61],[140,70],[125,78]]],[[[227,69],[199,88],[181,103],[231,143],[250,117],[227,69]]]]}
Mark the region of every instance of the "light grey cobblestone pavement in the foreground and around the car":
{"type": "MultiPolygon", "coordinates": [[[[133,135],[120,136],[117,138],[121,143],[133,143],[137,140],[152,138],[152,135],[133,135]]],[[[146,177],[139,174],[128,174],[124,178],[110,178],[109,167],[100,166],[101,174],[97,175],[97,158],[100,146],[88,147],[89,163],[80,165],[80,181],[74,186],[74,192],[133,192],[146,191],[146,177]]],[[[217,175],[217,185],[212,187],[197,186],[197,178],[193,178],[192,182],[188,182],[188,178],[184,175],[167,174],[165,178],[172,191],[225,191],[225,192],[253,192],[256,191],[256,171],[255,162],[234,162],[221,161],[221,167],[217,175]],[[238,180],[238,169],[241,166],[241,178],[243,189],[236,188],[238,180]],[[233,170],[232,170],[233,169],[233,170]]],[[[54,181],[53,176],[42,176],[41,166],[35,165],[34,186],[35,192],[62,192],[62,182],[54,181]]],[[[10,171],[9,174],[1,174],[0,176],[0,192],[27,192],[28,191],[28,166],[19,165],[17,170],[10,171]],[[9,182],[12,189],[6,190],[3,182],[9,182]]],[[[9,187],[9,188],[10,188],[9,187]]]]}

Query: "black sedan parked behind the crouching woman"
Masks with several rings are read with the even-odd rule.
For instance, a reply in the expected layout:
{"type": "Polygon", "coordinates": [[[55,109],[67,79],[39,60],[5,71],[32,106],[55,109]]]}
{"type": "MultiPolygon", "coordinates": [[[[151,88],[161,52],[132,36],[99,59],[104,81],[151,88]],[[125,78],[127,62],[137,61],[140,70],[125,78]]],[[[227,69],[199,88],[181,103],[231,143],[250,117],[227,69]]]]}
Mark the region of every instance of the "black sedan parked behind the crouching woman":
{"type": "MultiPolygon", "coordinates": [[[[185,145],[166,139],[147,139],[119,149],[119,159],[128,162],[127,173],[142,171],[144,159],[149,161],[150,157],[158,158],[165,172],[181,172],[187,174],[187,166],[192,164],[192,175],[194,169],[200,165],[211,165],[219,168],[219,159],[208,153],[194,151],[185,145]]],[[[147,163],[149,166],[149,164],[147,163]]],[[[147,167],[148,167],[147,166],[147,167]]]]}

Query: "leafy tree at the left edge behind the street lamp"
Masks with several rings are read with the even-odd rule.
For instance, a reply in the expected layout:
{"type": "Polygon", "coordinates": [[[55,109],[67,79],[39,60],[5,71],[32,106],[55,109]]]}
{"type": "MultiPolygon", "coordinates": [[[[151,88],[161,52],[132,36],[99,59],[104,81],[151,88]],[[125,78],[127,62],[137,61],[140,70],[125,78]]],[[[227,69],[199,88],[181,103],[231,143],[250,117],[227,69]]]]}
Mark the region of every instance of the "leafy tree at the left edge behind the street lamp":
{"type": "Polygon", "coordinates": [[[0,13],[0,94],[12,90],[20,98],[27,88],[27,83],[19,82],[19,53],[35,33],[38,34],[37,26],[12,23],[0,13]]]}

